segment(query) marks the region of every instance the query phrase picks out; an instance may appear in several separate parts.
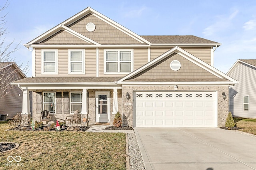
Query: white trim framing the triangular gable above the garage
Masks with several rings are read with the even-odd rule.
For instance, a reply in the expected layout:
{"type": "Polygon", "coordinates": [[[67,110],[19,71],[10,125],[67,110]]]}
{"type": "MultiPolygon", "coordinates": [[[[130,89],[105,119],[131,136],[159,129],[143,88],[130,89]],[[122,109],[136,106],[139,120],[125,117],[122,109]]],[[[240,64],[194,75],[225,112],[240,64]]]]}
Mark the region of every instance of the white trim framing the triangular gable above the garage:
{"type": "Polygon", "coordinates": [[[143,84],[143,83],[151,82],[152,84],[165,84],[165,83],[170,84],[170,82],[177,81],[180,84],[180,83],[182,83],[182,80],[184,80],[184,82],[183,82],[184,84],[200,84],[200,83],[201,84],[235,84],[235,83],[237,83],[236,80],[232,79],[231,77],[222,73],[221,71],[215,69],[214,67],[208,65],[207,63],[198,59],[194,55],[184,51],[183,49],[181,49],[178,46],[173,47],[166,53],[160,55],[159,57],[150,61],[146,65],[140,67],[136,71],[126,75],[122,79],[119,79],[117,81],[117,83],[136,84],[139,82],[140,84],[143,84]],[[184,59],[194,63],[194,65],[196,65],[200,69],[203,69],[205,72],[208,73],[208,76],[210,75],[210,78],[207,76],[207,78],[205,78],[205,79],[193,79],[193,78],[191,78],[191,79],[184,79],[184,78],[163,79],[162,77],[159,77],[159,79],[157,79],[157,77],[152,76],[151,79],[150,78],[149,79],[140,79],[140,75],[142,75],[143,72],[145,72],[151,68],[154,68],[154,65],[156,65],[156,64],[162,62],[163,60],[167,59],[168,57],[170,58],[170,56],[174,56],[176,54],[178,54],[181,57],[184,57],[184,59]],[[137,78],[137,80],[136,80],[136,78],[137,78]]]}

